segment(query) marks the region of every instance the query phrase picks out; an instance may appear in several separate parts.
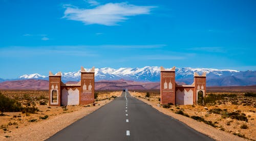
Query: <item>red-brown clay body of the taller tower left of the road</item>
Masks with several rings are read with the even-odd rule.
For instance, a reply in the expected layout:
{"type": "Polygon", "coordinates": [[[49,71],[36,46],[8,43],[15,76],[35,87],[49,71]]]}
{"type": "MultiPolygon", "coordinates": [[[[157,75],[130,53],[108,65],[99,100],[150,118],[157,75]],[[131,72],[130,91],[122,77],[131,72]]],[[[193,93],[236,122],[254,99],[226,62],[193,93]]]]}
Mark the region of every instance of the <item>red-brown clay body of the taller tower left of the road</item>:
{"type": "Polygon", "coordinates": [[[79,104],[94,103],[94,72],[81,72],[79,104]]]}

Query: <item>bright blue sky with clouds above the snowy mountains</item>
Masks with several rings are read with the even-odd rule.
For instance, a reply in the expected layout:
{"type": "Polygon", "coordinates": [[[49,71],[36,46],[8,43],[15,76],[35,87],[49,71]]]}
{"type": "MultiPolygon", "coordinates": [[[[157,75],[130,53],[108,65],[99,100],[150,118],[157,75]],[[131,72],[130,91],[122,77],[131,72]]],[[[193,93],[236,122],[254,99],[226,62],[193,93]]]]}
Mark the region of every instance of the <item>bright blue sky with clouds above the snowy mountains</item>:
{"type": "Polygon", "coordinates": [[[81,66],[256,70],[256,1],[0,0],[0,78],[81,66]]]}

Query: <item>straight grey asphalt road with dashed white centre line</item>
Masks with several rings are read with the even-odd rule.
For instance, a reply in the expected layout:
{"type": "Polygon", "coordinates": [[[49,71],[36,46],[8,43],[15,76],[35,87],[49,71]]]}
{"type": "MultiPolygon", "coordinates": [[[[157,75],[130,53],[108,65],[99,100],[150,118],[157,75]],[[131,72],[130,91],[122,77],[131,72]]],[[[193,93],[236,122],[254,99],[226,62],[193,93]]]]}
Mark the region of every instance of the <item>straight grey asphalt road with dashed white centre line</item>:
{"type": "Polygon", "coordinates": [[[123,92],[121,97],[57,132],[47,140],[213,139],[131,97],[128,92],[123,92]]]}

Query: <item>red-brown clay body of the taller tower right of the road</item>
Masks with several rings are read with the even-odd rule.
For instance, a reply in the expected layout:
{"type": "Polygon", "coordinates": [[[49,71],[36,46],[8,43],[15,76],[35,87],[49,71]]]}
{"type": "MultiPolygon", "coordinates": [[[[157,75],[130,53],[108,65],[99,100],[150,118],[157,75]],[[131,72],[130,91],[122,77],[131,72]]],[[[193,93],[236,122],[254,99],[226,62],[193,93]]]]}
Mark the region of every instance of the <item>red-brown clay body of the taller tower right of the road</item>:
{"type": "Polygon", "coordinates": [[[175,71],[161,71],[160,79],[161,104],[175,105],[175,71]]]}

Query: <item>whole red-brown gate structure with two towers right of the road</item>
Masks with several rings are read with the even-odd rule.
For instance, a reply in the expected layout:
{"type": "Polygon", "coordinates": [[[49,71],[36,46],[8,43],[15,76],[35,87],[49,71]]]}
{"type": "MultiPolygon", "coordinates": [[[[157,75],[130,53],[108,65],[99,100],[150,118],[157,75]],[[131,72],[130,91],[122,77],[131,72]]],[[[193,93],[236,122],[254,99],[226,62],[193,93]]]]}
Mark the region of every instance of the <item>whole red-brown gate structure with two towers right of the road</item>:
{"type": "Polygon", "coordinates": [[[175,81],[175,67],[165,70],[160,67],[161,104],[193,105],[203,103],[206,93],[206,72],[202,75],[194,73],[191,85],[178,85],[175,81]]]}

